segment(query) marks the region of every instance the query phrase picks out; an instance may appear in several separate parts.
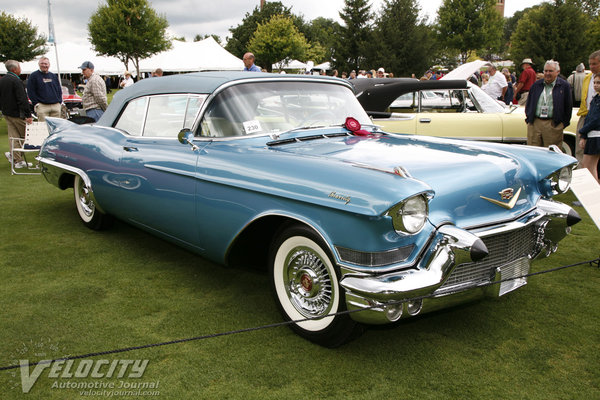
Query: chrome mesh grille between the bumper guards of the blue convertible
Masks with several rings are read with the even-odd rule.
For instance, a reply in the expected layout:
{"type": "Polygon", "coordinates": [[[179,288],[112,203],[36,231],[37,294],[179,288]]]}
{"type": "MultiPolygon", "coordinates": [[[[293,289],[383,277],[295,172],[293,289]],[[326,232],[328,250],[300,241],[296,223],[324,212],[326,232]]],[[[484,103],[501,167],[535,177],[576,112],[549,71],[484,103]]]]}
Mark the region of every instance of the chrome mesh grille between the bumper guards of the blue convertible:
{"type": "Polygon", "coordinates": [[[538,232],[535,224],[497,235],[482,237],[489,255],[474,263],[458,265],[436,295],[467,289],[491,282],[496,268],[535,254],[538,232]]]}

